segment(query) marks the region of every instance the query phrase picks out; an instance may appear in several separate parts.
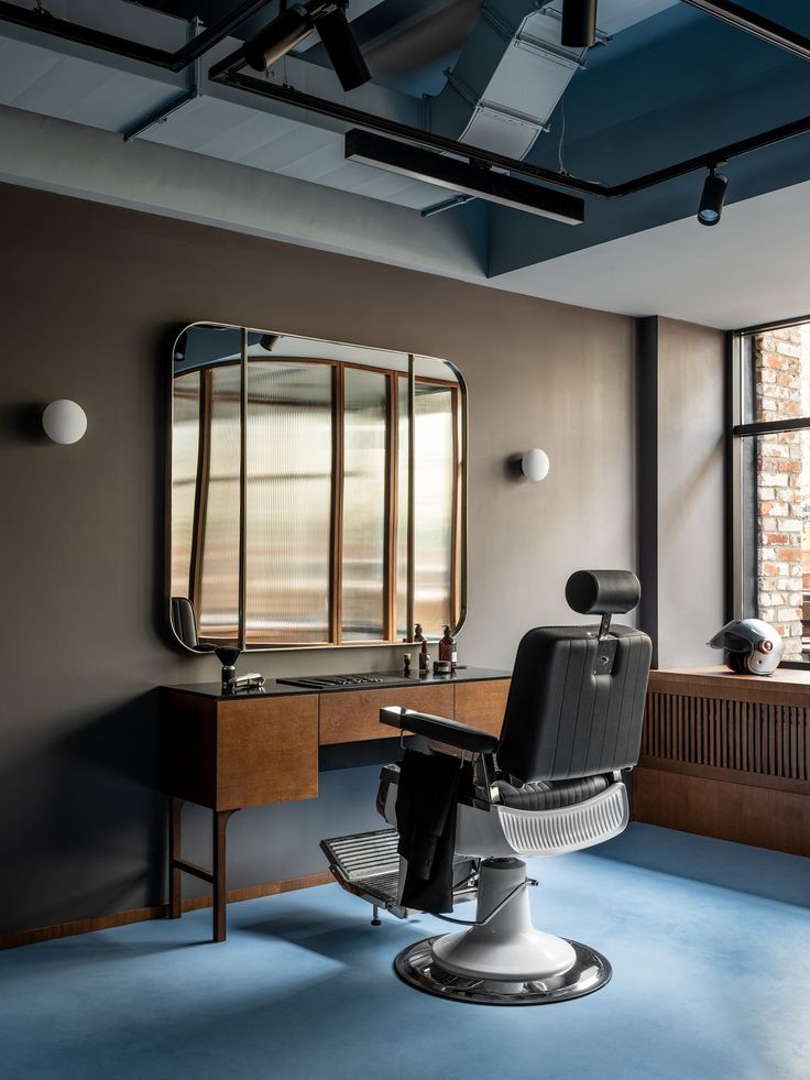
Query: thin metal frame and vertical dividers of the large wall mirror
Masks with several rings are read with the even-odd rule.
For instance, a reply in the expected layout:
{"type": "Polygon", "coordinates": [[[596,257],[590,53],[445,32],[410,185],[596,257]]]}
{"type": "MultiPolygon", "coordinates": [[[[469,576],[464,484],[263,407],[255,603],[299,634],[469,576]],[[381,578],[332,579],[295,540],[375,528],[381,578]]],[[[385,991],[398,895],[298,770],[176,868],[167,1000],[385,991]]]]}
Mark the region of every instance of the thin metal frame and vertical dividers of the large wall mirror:
{"type": "MultiPolygon", "coordinates": [[[[407,357],[408,358],[408,428],[413,432],[414,428],[414,388],[416,378],[415,377],[415,361],[417,360],[428,360],[435,363],[444,364],[452,371],[455,378],[459,384],[459,450],[461,455],[461,474],[459,478],[459,533],[460,533],[460,544],[459,544],[459,619],[455,626],[451,626],[451,633],[457,635],[464,626],[467,622],[467,600],[468,600],[468,583],[467,583],[467,570],[468,570],[468,474],[469,474],[469,403],[468,403],[468,388],[464,377],[461,371],[451,363],[449,360],[444,360],[440,357],[427,357],[423,353],[406,353],[396,349],[388,349],[377,346],[369,345],[357,345],[348,341],[333,341],[328,338],[313,338],[307,337],[302,334],[287,334],[280,330],[263,330],[258,327],[240,326],[238,324],[231,323],[212,323],[209,319],[198,319],[194,323],[184,324],[175,334],[172,351],[169,353],[169,372],[167,379],[167,395],[166,395],[166,415],[167,415],[167,433],[166,433],[166,445],[164,454],[164,466],[165,466],[165,483],[164,483],[164,588],[163,588],[163,610],[165,625],[171,634],[173,643],[179,647],[179,650],[191,656],[209,656],[211,655],[210,650],[197,650],[187,645],[177,631],[174,628],[174,622],[172,619],[172,495],[173,495],[173,474],[172,474],[172,461],[173,461],[173,450],[174,450],[174,363],[175,353],[177,351],[177,346],[180,338],[193,329],[195,326],[211,326],[220,329],[238,330],[240,332],[241,339],[241,370],[242,370],[242,388],[244,388],[245,375],[247,375],[247,364],[248,364],[248,335],[249,334],[272,334],[278,335],[285,338],[297,338],[298,340],[306,341],[317,341],[325,346],[336,346],[341,349],[359,349],[362,351],[375,351],[375,352],[387,352],[392,356],[407,357]]],[[[380,371],[392,370],[380,368],[380,371]]],[[[394,369],[396,370],[396,369],[394,369]]],[[[245,416],[245,402],[242,395],[242,401],[240,405],[241,410],[241,426],[242,433],[244,432],[244,416],[245,416]]],[[[408,474],[414,476],[414,463],[415,463],[415,445],[414,439],[408,438],[408,474]]],[[[277,644],[277,645],[253,645],[245,648],[244,645],[244,585],[245,575],[244,566],[247,561],[247,536],[245,536],[245,522],[244,522],[244,503],[245,503],[245,490],[247,490],[247,476],[244,472],[244,452],[242,454],[242,462],[240,465],[240,543],[239,543],[239,634],[241,639],[241,647],[248,653],[276,653],[276,652],[298,652],[300,650],[343,650],[343,648],[394,648],[397,645],[404,647],[409,647],[413,645],[413,641],[360,641],[360,642],[341,642],[340,644],[335,644],[332,642],[318,642],[313,644],[277,644]]],[[[414,520],[414,483],[408,484],[408,522],[414,520]]],[[[408,528],[408,571],[407,571],[407,614],[406,614],[406,625],[408,626],[408,633],[413,633],[413,628],[415,625],[414,621],[414,531],[413,527],[408,528]]],[[[428,639],[429,641],[438,641],[438,637],[428,639]]]]}

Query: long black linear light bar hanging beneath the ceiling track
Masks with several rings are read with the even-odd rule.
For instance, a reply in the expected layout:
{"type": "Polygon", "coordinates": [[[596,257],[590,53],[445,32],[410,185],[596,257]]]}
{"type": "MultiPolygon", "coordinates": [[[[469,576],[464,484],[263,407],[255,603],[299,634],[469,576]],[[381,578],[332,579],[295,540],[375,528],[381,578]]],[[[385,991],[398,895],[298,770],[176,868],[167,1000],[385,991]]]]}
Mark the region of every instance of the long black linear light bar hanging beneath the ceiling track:
{"type": "Polygon", "coordinates": [[[474,195],[517,210],[527,210],[566,225],[582,225],[585,219],[584,200],[573,195],[552,192],[485,166],[437,154],[433,150],[384,139],[360,128],[352,128],[346,133],[346,160],[447,187],[451,192],[474,195]]]}

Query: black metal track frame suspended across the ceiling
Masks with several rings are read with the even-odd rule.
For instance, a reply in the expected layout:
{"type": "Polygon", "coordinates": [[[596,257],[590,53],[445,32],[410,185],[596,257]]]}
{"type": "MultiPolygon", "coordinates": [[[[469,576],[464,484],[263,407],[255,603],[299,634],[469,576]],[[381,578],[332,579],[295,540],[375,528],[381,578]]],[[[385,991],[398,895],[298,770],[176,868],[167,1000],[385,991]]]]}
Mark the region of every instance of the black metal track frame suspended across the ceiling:
{"type": "MultiPolygon", "coordinates": [[[[223,41],[237,26],[266,7],[269,2],[270,0],[245,0],[244,3],[238,4],[228,15],[219,20],[219,22],[204,30],[174,53],[154,48],[151,45],[140,42],[131,42],[113,34],[102,33],[89,26],[80,26],[65,19],[57,19],[40,9],[20,8],[17,4],[7,2],[7,0],[0,0],[0,21],[42,31],[53,36],[77,42],[94,48],[100,48],[130,59],[141,61],[145,64],[153,64],[176,73],[183,70],[183,68],[194,63],[194,61],[199,59],[204,53],[223,41]]],[[[784,48],[795,56],[799,56],[802,59],[810,59],[810,39],[796,33],[787,26],[781,26],[769,19],[765,19],[755,12],[748,11],[740,4],[733,3],[732,0],[681,0],[681,2],[697,8],[705,14],[719,19],[745,33],[752,34],[762,41],[784,48]]],[[[393,138],[429,146],[442,153],[456,154],[483,167],[506,170],[510,173],[527,176],[530,179],[540,181],[544,184],[551,184],[555,187],[562,187],[567,190],[578,192],[581,195],[592,195],[596,198],[604,199],[617,199],[623,198],[625,195],[634,195],[637,192],[655,187],[667,181],[686,176],[699,168],[710,168],[720,163],[729,162],[734,157],[740,157],[743,154],[763,150],[766,146],[771,146],[787,139],[793,139],[797,135],[810,132],[810,117],[801,117],[792,120],[790,123],[781,124],[778,128],[770,128],[767,131],[749,135],[747,139],[741,139],[724,146],[719,146],[715,150],[697,154],[686,161],[667,165],[664,168],[646,173],[634,179],[625,181],[622,184],[610,185],[602,184],[598,181],[581,179],[569,174],[555,173],[549,168],[543,168],[530,162],[518,161],[514,157],[507,157],[482,148],[468,146],[455,139],[447,139],[444,135],[424,131],[422,128],[399,123],[386,117],[376,117],[361,109],[353,109],[350,106],[341,105],[328,98],[304,94],[291,86],[278,86],[266,80],[261,80],[244,75],[242,72],[244,66],[244,52],[240,47],[211,67],[208,77],[212,83],[255,94],[306,112],[315,112],[355,127],[380,131],[393,138]]]]}

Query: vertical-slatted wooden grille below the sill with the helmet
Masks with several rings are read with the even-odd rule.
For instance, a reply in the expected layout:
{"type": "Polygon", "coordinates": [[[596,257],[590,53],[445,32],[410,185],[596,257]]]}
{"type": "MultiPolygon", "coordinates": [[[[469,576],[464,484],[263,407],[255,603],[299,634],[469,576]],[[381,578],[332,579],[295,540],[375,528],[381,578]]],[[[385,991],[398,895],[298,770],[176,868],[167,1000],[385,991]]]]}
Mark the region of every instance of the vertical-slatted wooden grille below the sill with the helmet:
{"type": "Polygon", "coordinates": [[[642,764],[663,759],[807,782],[809,728],[810,710],[797,706],[650,692],[642,764]]]}

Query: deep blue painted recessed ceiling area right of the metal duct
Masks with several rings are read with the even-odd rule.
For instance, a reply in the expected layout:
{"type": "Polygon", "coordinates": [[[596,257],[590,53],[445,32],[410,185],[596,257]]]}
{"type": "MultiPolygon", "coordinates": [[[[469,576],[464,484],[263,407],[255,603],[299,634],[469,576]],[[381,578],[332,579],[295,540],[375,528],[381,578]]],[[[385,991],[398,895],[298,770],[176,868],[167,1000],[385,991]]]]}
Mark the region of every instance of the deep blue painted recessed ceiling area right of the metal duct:
{"type": "MultiPolygon", "coordinates": [[[[806,0],[747,7],[810,35],[806,0]]],[[[810,114],[810,64],[681,3],[591,50],[529,160],[559,167],[563,113],[565,168],[616,184],[810,114]]],[[[809,179],[810,135],[735,159],[723,172],[729,204],[809,179]]],[[[615,201],[589,197],[576,228],[492,207],[490,275],[688,217],[704,175],[615,201]]]]}

